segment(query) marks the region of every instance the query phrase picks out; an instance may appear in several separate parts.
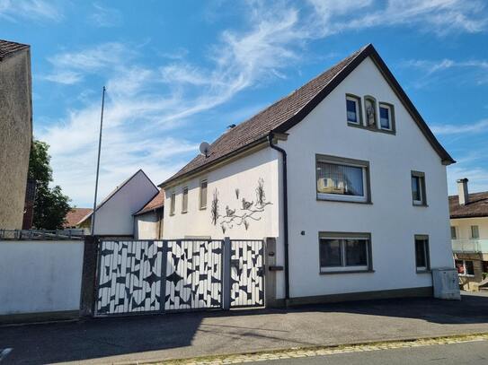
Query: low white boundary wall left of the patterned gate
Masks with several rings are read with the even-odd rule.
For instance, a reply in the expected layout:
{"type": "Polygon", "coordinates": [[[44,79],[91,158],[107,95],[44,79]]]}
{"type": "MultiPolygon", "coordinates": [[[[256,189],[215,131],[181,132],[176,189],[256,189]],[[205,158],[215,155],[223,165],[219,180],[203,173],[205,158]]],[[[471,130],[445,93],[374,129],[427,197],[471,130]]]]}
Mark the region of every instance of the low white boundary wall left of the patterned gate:
{"type": "Polygon", "coordinates": [[[0,242],[0,315],[78,310],[84,242],[0,242]]]}

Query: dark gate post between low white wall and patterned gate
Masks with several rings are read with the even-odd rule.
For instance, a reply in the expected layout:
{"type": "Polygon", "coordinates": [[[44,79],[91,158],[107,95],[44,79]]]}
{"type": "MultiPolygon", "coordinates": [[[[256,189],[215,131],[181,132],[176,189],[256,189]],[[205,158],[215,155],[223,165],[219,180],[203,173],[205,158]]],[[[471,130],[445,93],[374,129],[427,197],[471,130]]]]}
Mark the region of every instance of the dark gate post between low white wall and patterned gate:
{"type": "Polygon", "coordinates": [[[80,292],[80,317],[92,317],[95,303],[98,237],[84,237],[83,272],[80,292]]]}

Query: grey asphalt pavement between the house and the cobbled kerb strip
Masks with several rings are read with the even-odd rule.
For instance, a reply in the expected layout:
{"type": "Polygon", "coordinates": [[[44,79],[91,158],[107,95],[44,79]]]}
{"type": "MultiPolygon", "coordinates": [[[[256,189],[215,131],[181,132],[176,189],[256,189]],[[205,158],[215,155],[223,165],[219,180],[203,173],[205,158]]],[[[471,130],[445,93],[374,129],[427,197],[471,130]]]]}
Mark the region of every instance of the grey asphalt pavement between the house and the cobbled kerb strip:
{"type": "Polygon", "coordinates": [[[488,333],[488,296],[374,300],[0,327],[2,361],[156,361],[314,345],[488,333]]]}

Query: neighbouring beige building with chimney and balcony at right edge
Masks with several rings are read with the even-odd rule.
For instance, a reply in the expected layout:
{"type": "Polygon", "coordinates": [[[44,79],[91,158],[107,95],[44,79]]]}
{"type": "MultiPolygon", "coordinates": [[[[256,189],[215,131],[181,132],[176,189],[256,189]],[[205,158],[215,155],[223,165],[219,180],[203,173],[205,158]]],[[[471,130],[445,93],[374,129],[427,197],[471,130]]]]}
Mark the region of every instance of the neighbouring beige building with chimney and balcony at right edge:
{"type": "Polygon", "coordinates": [[[449,196],[454,259],[463,289],[488,289],[488,191],[469,194],[467,178],[457,180],[458,196],[449,196]]]}

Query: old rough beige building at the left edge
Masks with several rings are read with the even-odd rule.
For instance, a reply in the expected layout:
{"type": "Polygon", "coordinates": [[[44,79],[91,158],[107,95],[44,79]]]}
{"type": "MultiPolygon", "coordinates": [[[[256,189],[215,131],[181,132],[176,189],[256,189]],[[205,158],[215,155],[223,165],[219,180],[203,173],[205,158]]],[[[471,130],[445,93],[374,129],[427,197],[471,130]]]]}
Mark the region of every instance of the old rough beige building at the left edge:
{"type": "Polygon", "coordinates": [[[0,39],[0,229],[22,229],[31,139],[30,46],[0,39]]]}

